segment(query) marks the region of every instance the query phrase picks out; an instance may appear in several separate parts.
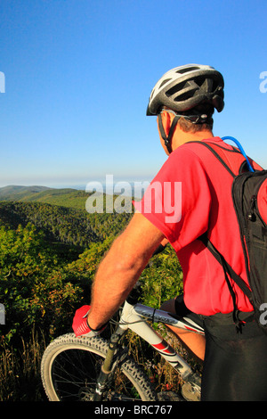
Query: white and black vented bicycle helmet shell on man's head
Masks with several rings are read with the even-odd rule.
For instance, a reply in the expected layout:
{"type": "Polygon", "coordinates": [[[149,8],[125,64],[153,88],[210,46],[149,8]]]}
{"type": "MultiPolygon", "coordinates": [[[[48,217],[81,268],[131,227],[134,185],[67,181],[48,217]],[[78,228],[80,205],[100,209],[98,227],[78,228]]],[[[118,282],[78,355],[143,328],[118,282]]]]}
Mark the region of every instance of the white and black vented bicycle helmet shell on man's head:
{"type": "Polygon", "coordinates": [[[223,76],[208,65],[188,64],[167,71],[153,88],[147,115],[158,115],[163,106],[184,112],[201,103],[223,111],[223,76]]]}

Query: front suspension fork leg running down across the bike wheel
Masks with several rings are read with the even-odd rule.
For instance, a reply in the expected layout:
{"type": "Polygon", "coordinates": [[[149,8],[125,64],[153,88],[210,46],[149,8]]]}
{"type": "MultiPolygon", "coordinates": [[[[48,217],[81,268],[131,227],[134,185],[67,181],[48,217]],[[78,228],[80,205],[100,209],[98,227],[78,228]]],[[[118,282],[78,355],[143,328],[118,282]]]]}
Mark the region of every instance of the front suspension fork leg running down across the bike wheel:
{"type": "Polygon", "coordinates": [[[117,346],[125,332],[126,332],[125,328],[121,328],[120,326],[118,326],[115,333],[113,333],[110,337],[109,349],[107,351],[104,362],[101,366],[101,372],[96,382],[96,388],[93,395],[93,401],[101,401],[102,399],[103,393],[106,390],[109,374],[111,373],[114,366],[114,361],[115,361],[114,356],[115,356],[117,346]]]}

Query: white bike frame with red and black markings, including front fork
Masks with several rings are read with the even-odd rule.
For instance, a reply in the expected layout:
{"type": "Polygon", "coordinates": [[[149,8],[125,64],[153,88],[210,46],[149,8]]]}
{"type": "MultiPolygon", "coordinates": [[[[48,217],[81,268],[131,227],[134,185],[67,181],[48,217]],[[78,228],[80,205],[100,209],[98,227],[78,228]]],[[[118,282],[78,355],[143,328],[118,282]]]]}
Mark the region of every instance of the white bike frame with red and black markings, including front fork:
{"type": "Polygon", "coordinates": [[[109,341],[109,350],[102,365],[101,374],[95,390],[95,401],[101,400],[101,395],[105,389],[105,383],[107,382],[108,376],[114,366],[117,365],[119,359],[114,359],[117,344],[127,329],[132,330],[144,341],[147,341],[179,374],[181,374],[184,381],[192,383],[200,390],[200,378],[198,375],[192,371],[190,365],[176,353],[160,334],[149,325],[145,320],[146,318],[152,320],[152,323],[160,322],[189,330],[190,332],[204,334],[204,330],[189,318],[175,316],[166,311],[150,308],[140,303],[131,304],[126,300],[118,322],[117,330],[112,334],[109,341]]]}

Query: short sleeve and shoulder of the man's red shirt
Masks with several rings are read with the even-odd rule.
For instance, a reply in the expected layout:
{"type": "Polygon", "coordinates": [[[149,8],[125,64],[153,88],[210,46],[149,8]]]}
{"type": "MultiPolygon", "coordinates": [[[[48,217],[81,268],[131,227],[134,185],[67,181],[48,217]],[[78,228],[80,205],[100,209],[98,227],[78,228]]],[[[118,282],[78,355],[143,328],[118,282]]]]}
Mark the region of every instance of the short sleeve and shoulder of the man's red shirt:
{"type": "Polygon", "coordinates": [[[205,233],[210,181],[198,155],[185,147],[172,152],[134,208],[165,234],[175,251],[205,233]]]}

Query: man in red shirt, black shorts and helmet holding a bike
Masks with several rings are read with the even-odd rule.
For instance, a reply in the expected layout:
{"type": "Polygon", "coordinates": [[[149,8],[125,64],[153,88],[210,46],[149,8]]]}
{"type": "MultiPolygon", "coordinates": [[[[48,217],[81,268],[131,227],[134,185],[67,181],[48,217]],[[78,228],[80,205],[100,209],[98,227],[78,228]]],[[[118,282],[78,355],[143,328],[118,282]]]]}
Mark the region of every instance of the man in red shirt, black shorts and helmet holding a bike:
{"type": "MultiPolygon", "coordinates": [[[[163,308],[192,316],[206,330],[205,339],[173,328],[184,344],[204,359],[202,400],[266,400],[267,337],[250,321],[253,307],[230,280],[242,325],[242,333],[237,333],[233,295],[223,267],[201,240],[207,234],[247,283],[231,203],[233,178],[201,144],[209,144],[234,174],[239,174],[243,155],[212,132],[214,109],[223,111],[223,87],[220,72],[196,64],[169,70],[158,80],[147,115],[158,116],[160,141],[169,157],[142,201],[134,203],[134,217],[102,260],[89,314],[86,306],[77,312],[74,330],[77,335],[101,332],[153,252],[167,239],[182,266],[183,296],[167,301],[163,308]]],[[[251,164],[258,168],[253,161],[251,164]]]]}

